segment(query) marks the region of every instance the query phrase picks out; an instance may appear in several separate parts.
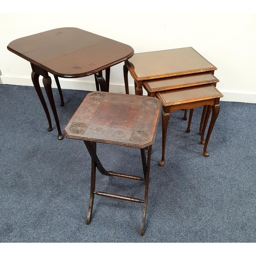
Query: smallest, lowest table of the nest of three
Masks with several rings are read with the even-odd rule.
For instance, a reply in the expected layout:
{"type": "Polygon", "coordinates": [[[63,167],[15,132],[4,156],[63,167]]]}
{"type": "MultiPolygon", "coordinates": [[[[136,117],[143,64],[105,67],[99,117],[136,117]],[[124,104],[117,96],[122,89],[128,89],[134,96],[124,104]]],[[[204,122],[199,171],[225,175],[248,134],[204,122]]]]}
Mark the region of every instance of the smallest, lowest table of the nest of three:
{"type": "MultiPolygon", "coordinates": [[[[209,156],[206,152],[209,138],[214,127],[215,121],[218,117],[220,111],[220,98],[223,94],[220,93],[216,87],[212,84],[206,84],[202,86],[195,86],[190,88],[175,89],[172,91],[157,92],[156,96],[163,102],[163,113],[162,113],[162,159],[160,161],[160,166],[164,165],[165,157],[165,145],[166,145],[166,133],[169,121],[169,114],[177,110],[193,110],[199,106],[207,105],[207,111],[205,118],[203,119],[203,128],[201,133],[201,143],[204,144],[203,154],[205,157],[209,156]],[[210,116],[210,111],[212,109],[211,120],[204,141],[204,132],[210,116]]],[[[189,124],[191,118],[189,116],[189,124]]],[[[187,132],[190,132],[188,125],[187,132]]]]}

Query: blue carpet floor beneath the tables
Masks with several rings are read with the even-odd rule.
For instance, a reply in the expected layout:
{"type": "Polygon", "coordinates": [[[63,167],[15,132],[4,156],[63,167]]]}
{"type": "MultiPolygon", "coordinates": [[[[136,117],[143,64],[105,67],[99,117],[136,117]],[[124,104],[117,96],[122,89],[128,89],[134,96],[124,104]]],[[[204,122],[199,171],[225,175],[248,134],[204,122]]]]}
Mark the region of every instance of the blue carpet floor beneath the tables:
{"type": "MultiPolygon", "coordinates": [[[[63,107],[53,89],[63,130],[88,91],[62,92],[63,107]]],[[[1,84],[0,106],[0,242],[255,242],[256,104],[220,102],[208,158],[198,134],[202,108],[195,109],[189,134],[183,112],[172,113],[164,167],[158,165],[159,123],[144,237],[142,204],[95,196],[92,222],[86,225],[89,153],[82,141],[57,140],[53,117],[53,131],[47,131],[33,87],[1,84]]],[[[97,146],[106,169],[142,175],[138,149],[97,146]]],[[[98,190],[143,197],[143,182],[99,172],[96,179],[98,190]]]]}

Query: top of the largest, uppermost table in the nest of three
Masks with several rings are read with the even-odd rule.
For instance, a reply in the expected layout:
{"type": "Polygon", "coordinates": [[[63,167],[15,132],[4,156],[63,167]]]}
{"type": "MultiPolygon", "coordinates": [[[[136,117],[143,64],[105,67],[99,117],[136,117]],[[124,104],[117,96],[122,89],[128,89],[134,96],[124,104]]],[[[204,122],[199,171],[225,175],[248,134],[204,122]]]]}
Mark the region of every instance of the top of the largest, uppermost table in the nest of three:
{"type": "Polygon", "coordinates": [[[137,81],[217,70],[192,47],[136,53],[125,62],[137,81]]]}

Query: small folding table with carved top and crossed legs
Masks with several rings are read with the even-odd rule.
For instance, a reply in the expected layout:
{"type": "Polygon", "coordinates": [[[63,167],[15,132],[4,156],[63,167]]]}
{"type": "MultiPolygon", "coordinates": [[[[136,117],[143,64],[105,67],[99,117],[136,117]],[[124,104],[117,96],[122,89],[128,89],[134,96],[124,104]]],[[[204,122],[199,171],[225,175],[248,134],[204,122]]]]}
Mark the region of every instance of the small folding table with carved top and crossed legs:
{"type": "Polygon", "coordinates": [[[140,234],[144,235],[152,144],[155,140],[161,108],[161,101],[155,97],[93,92],[86,96],[65,127],[64,133],[67,138],[83,140],[92,158],[88,225],[91,222],[93,200],[96,194],[143,203],[140,234]],[[96,154],[96,142],[140,148],[143,177],[105,170],[96,154]],[[145,181],[144,199],[95,191],[96,167],[106,176],[145,181]]]}

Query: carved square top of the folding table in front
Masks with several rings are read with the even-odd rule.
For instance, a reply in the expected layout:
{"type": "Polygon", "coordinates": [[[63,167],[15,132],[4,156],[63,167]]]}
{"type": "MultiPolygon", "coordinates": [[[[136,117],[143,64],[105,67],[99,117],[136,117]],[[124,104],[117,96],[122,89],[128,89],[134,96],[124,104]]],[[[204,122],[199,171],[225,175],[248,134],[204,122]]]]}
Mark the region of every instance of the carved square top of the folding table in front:
{"type": "Polygon", "coordinates": [[[64,133],[72,139],[144,148],[154,143],[161,107],[156,97],[92,92],[64,133]]]}

